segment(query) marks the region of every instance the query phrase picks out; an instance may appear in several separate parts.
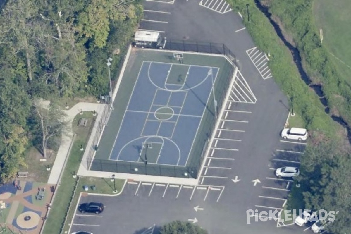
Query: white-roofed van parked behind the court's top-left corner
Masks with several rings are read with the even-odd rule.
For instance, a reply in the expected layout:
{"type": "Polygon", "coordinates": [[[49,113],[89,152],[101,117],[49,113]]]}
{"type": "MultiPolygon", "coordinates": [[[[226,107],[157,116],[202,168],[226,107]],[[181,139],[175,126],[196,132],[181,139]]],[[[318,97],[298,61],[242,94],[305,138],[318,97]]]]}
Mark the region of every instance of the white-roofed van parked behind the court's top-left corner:
{"type": "Polygon", "coordinates": [[[166,45],[166,38],[161,38],[158,32],[138,30],[135,32],[133,45],[134,47],[138,46],[141,48],[163,49],[166,45]]]}

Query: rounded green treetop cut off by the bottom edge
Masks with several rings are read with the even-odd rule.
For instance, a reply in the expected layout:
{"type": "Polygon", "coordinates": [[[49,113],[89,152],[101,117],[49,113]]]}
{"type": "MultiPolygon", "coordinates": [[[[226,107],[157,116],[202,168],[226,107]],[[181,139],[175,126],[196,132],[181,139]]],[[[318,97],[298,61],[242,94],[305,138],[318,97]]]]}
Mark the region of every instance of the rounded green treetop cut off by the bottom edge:
{"type": "Polygon", "coordinates": [[[190,222],[173,221],[161,227],[160,234],[208,234],[208,232],[190,222]]]}

